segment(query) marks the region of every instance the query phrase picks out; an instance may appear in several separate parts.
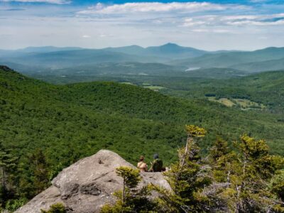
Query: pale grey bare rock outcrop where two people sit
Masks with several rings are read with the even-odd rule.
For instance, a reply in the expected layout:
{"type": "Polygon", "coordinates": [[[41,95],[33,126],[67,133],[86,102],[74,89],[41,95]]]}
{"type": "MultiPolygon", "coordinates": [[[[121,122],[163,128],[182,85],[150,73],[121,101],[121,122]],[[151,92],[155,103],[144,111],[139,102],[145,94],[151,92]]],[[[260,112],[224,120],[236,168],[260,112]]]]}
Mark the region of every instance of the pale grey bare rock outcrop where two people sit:
{"type": "MultiPolygon", "coordinates": [[[[18,209],[18,213],[40,213],[51,204],[61,202],[68,212],[99,212],[102,205],[115,201],[113,193],[121,190],[122,178],[116,175],[119,166],[133,165],[114,152],[101,150],[95,155],[79,160],[62,170],[52,181],[52,186],[35,196],[18,209]]],[[[141,173],[140,187],[153,183],[170,190],[161,173],[141,173]]]]}

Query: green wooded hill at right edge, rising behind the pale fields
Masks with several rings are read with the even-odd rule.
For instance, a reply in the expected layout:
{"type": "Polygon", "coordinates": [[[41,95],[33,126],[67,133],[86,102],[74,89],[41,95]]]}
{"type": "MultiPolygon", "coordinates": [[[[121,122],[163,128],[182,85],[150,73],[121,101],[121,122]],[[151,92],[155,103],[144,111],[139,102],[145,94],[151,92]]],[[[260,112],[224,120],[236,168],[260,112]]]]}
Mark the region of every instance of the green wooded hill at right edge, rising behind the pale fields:
{"type": "Polygon", "coordinates": [[[216,97],[250,99],[281,114],[284,108],[283,70],[262,72],[229,80],[200,80],[182,88],[187,91],[187,94],[200,97],[204,97],[205,94],[214,94],[216,97]]]}

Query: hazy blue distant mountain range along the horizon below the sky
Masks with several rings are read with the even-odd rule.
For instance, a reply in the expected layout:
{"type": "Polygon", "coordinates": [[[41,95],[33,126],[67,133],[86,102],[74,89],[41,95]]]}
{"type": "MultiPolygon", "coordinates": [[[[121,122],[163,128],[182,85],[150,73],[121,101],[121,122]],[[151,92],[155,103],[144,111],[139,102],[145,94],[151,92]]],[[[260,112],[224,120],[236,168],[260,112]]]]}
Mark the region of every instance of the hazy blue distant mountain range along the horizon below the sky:
{"type": "MultiPolygon", "coordinates": [[[[50,70],[68,70],[71,68],[72,72],[76,69],[78,69],[77,72],[85,72],[86,68],[88,72],[92,72],[92,70],[97,72],[98,67],[104,67],[104,72],[112,73],[120,70],[119,73],[121,73],[121,68],[117,68],[120,67],[119,63],[138,63],[139,69],[136,74],[141,72],[156,74],[157,67],[158,70],[166,67],[167,73],[170,69],[175,72],[195,70],[195,75],[198,69],[212,68],[229,68],[239,70],[240,73],[262,72],[284,69],[284,48],[209,52],[167,43],[148,48],[142,48],[138,45],[103,49],[45,46],[19,50],[0,50],[0,64],[9,65],[21,72],[50,72],[50,70]],[[104,63],[115,63],[117,65],[115,65],[115,68],[113,66],[106,68],[101,65],[104,63]],[[141,65],[141,63],[148,65],[141,65]],[[151,67],[149,64],[155,66],[151,67]],[[157,64],[160,64],[160,66],[157,64]]],[[[214,71],[216,72],[216,70],[214,71]]],[[[128,72],[129,67],[125,69],[124,74],[128,72]]],[[[131,73],[135,73],[135,69],[132,69],[131,73]]]]}

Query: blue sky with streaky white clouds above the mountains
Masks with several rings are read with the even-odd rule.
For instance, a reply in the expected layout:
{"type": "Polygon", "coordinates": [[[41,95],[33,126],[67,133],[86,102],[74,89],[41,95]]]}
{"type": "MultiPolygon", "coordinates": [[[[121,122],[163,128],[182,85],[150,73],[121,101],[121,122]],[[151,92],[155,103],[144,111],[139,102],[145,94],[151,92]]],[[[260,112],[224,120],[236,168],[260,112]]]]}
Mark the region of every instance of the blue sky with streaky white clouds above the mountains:
{"type": "Polygon", "coordinates": [[[0,49],[284,47],[284,0],[0,0],[0,49]]]}

